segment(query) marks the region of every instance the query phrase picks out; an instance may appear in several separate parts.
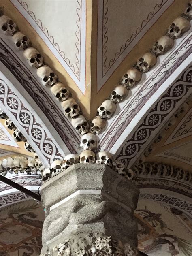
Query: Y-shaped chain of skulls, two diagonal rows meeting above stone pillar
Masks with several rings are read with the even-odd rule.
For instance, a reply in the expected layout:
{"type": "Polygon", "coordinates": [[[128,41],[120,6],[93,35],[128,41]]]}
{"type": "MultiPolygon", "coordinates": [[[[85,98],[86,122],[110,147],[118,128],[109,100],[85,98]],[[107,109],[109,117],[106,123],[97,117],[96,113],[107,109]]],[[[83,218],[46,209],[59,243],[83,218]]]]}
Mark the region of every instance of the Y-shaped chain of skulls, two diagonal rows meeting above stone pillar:
{"type": "MultiPolygon", "coordinates": [[[[189,30],[189,20],[192,19],[191,5],[192,1],[190,0],[182,17],[178,17],[170,24],[167,34],[160,37],[154,43],[151,50],[143,54],[137,60],[136,64],[127,70],[124,76],[120,79],[119,84],[111,92],[109,98],[102,102],[102,105],[98,107],[98,115],[90,123],[87,122],[82,115],[81,109],[77,102],[71,97],[70,91],[63,83],[58,81],[58,75],[56,75],[49,66],[44,64],[43,56],[32,47],[30,39],[18,31],[16,24],[9,17],[5,15],[0,17],[0,28],[2,32],[11,36],[18,50],[24,50],[24,58],[26,58],[31,67],[36,68],[37,76],[40,78],[42,85],[51,87],[51,92],[57,100],[61,101],[64,115],[71,119],[72,126],[82,135],[80,146],[81,149],[83,149],[83,152],[81,152],[79,158],[81,163],[84,161],[98,163],[100,161],[97,157],[99,153],[95,156],[95,153],[93,152],[97,147],[95,134],[98,135],[102,132],[106,126],[106,120],[113,116],[116,110],[116,104],[123,101],[128,96],[130,88],[141,80],[142,73],[148,72],[156,64],[157,56],[164,54],[171,49],[174,45],[174,39],[181,37],[183,33],[189,30]],[[81,158],[84,160],[81,160],[81,158]]],[[[21,134],[17,129],[15,131],[15,137],[17,136],[18,138],[18,134],[21,134]]],[[[110,153],[105,152],[105,154],[110,153]]],[[[51,176],[55,173],[55,171],[53,171],[55,161],[53,161],[51,169],[45,169],[45,173],[49,173],[48,176],[50,176],[50,173],[51,176]]],[[[60,166],[62,165],[60,164],[60,166]]]]}

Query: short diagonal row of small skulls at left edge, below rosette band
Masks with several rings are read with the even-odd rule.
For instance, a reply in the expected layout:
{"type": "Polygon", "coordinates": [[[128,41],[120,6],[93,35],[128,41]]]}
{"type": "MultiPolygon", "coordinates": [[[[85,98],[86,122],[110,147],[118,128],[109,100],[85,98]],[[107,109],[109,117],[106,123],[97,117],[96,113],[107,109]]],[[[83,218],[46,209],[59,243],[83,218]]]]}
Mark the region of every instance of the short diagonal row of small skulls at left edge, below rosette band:
{"type": "Polygon", "coordinates": [[[2,109],[0,109],[0,119],[4,119],[5,122],[5,126],[9,129],[9,130],[13,130],[13,139],[17,142],[25,142],[24,146],[25,149],[28,152],[34,152],[34,149],[32,148],[32,146],[30,145],[30,143],[26,140],[26,138],[24,137],[24,135],[21,133],[21,131],[15,126],[15,124],[13,123],[13,121],[11,121],[11,119],[6,115],[6,113],[4,111],[2,111],[2,109]]]}

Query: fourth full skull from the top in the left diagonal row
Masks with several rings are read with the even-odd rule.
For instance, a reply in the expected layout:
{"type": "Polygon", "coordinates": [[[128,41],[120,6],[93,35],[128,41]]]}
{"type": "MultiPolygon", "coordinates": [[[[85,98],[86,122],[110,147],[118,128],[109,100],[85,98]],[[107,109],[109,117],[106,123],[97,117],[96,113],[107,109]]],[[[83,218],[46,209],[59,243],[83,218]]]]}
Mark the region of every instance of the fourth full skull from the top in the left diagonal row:
{"type": "Polygon", "coordinates": [[[58,81],[58,76],[46,65],[37,69],[37,75],[44,86],[52,86],[58,81]]]}

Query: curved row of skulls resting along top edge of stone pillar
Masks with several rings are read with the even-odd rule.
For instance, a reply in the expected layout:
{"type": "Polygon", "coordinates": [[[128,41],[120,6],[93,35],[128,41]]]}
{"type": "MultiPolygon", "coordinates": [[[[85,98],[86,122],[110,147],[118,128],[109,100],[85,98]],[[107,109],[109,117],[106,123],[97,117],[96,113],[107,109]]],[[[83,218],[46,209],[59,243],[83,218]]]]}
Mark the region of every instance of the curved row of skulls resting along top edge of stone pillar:
{"type": "Polygon", "coordinates": [[[43,181],[48,181],[50,178],[55,177],[62,171],[66,171],[73,164],[105,164],[111,167],[114,171],[119,173],[119,175],[124,176],[126,179],[135,181],[136,177],[132,169],[126,169],[124,164],[121,162],[115,162],[113,154],[100,151],[95,154],[93,151],[87,149],[81,152],[80,155],[69,154],[63,158],[63,160],[54,160],[51,164],[51,168],[46,168],[43,171],[43,181]]]}

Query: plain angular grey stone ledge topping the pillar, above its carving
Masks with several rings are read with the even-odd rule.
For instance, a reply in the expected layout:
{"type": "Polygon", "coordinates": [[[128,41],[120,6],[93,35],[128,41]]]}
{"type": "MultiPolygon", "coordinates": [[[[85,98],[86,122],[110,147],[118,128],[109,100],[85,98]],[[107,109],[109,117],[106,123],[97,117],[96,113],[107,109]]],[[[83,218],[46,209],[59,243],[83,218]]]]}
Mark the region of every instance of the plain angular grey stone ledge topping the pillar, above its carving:
{"type": "Polygon", "coordinates": [[[41,197],[47,213],[52,205],[77,190],[102,190],[128,205],[132,211],[139,197],[139,189],[131,181],[105,164],[75,164],[41,186],[41,197]]]}

